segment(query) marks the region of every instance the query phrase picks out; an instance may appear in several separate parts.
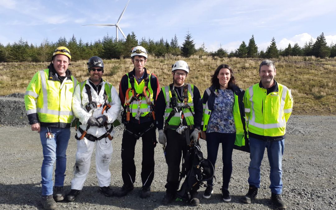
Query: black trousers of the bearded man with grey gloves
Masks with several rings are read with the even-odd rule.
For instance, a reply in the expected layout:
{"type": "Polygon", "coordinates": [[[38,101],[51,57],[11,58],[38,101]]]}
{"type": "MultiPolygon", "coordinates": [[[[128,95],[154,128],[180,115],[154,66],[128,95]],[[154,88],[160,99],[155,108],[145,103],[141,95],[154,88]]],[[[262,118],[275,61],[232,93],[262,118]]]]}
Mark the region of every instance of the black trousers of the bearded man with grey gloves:
{"type": "MultiPolygon", "coordinates": [[[[193,130],[189,131],[189,134],[193,130]]],[[[179,188],[178,179],[180,177],[181,157],[185,156],[190,146],[187,145],[185,136],[177,133],[174,129],[167,129],[167,145],[166,145],[166,163],[168,165],[167,174],[167,193],[175,194],[179,188]]],[[[192,188],[193,192],[197,192],[200,186],[192,188]]]]}

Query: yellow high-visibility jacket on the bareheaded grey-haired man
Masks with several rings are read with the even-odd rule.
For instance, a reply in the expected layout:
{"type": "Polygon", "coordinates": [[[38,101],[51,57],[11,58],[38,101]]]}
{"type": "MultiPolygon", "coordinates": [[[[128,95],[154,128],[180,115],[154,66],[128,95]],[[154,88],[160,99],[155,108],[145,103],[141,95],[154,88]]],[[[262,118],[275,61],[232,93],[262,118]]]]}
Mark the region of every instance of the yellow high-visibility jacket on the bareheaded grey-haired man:
{"type": "Polygon", "coordinates": [[[292,114],[293,97],[286,86],[276,85],[274,92],[268,94],[260,83],[246,90],[244,104],[249,132],[270,137],[285,135],[286,122],[292,114]]]}

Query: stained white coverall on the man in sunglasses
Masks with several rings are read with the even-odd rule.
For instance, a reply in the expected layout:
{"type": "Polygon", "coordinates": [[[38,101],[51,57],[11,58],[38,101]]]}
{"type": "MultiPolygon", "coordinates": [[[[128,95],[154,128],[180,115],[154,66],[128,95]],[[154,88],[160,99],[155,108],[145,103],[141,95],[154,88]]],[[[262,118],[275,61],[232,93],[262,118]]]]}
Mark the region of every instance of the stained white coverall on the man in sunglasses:
{"type": "MultiPolygon", "coordinates": [[[[90,111],[89,113],[85,109],[85,104],[89,103],[88,95],[86,93],[85,87],[82,90],[82,101],[80,96],[80,85],[77,85],[75,89],[75,93],[73,95],[72,101],[72,111],[74,115],[79,118],[79,121],[82,123],[80,127],[83,130],[86,130],[87,121],[89,117],[100,117],[102,116],[101,111],[104,105],[104,88],[105,82],[102,82],[102,87],[97,94],[97,92],[92,88],[91,84],[88,80],[86,80],[86,84],[91,87],[91,95],[92,101],[97,103],[97,107],[99,104],[101,106],[97,108],[96,111],[90,111]],[[93,112],[93,113],[92,113],[93,112]]],[[[103,115],[108,117],[107,123],[113,123],[118,115],[120,114],[121,102],[115,87],[111,85],[111,99],[110,103],[111,108],[106,112],[104,111],[103,115]]],[[[108,128],[110,129],[111,125],[109,124],[108,128]]],[[[97,126],[90,126],[87,130],[88,134],[94,135],[96,137],[100,137],[106,133],[106,128],[99,128],[97,126]]],[[[111,136],[115,133],[114,130],[111,132],[111,136]]],[[[77,130],[77,136],[80,137],[82,134],[79,129],[77,130]]],[[[93,152],[94,144],[96,144],[96,174],[98,179],[99,187],[109,186],[111,182],[111,172],[109,170],[111,156],[113,152],[112,141],[109,138],[102,138],[99,141],[90,141],[87,138],[83,138],[81,140],[77,140],[77,152],[76,152],[76,164],[74,166],[74,178],[71,181],[71,189],[73,190],[82,190],[84,181],[87,177],[87,174],[90,169],[91,163],[91,155],[93,152]]]]}

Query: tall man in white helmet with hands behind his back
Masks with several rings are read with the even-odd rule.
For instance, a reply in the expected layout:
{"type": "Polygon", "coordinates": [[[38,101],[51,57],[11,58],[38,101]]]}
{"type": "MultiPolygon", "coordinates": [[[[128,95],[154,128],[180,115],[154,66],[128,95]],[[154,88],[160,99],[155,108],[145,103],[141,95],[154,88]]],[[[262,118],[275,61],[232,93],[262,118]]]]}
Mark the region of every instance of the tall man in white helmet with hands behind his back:
{"type": "Polygon", "coordinates": [[[154,104],[159,93],[159,80],[145,65],[148,52],[142,46],[131,49],[133,70],[125,74],[119,85],[119,98],[124,108],[122,112],[125,125],[122,144],[122,178],[123,185],[115,196],[123,197],[134,188],[135,164],[134,150],[137,140],[142,139],[142,187],[140,198],[151,194],[154,178],[154,148],[156,146],[154,104]]]}

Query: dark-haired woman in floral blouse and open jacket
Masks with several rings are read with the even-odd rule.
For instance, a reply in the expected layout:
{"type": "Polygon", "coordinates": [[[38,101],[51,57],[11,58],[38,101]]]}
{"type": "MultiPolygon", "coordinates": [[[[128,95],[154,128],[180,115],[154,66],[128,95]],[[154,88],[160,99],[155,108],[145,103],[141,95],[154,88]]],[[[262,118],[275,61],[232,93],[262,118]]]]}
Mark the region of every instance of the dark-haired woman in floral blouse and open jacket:
{"type": "MultiPolygon", "coordinates": [[[[222,199],[230,202],[228,191],[232,174],[234,145],[248,148],[248,133],[243,97],[245,91],[235,85],[233,70],[221,64],[211,76],[211,86],[204,91],[202,137],[207,141],[208,159],[215,166],[218,147],[222,144],[223,185],[222,199]]],[[[207,182],[203,198],[213,193],[213,179],[207,182]]]]}

